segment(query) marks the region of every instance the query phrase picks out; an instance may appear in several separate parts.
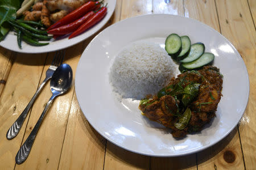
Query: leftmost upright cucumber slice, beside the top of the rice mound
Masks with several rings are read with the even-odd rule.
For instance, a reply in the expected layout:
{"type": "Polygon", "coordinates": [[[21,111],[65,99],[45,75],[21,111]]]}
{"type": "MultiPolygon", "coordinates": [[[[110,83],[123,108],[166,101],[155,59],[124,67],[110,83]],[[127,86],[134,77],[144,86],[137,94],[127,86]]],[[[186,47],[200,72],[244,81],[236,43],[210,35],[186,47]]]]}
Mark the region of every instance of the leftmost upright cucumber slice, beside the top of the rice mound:
{"type": "Polygon", "coordinates": [[[176,56],[181,51],[181,39],[176,33],[172,33],[166,39],[166,52],[170,56],[176,56]]]}

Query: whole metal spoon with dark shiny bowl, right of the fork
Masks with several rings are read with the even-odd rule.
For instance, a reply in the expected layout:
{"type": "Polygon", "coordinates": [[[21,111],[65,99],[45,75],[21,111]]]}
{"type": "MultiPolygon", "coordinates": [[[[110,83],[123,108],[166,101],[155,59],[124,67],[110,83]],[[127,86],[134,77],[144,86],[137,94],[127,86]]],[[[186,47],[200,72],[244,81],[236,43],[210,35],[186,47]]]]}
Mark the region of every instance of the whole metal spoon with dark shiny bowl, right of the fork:
{"type": "Polygon", "coordinates": [[[50,83],[52,96],[49,99],[46,107],[44,108],[44,111],[41,114],[38,122],[36,122],[34,129],[31,131],[30,135],[27,137],[27,140],[23,143],[22,147],[20,147],[15,158],[17,164],[21,164],[27,159],[28,155],[30,154],[32,145],[35,141],[36,134],[38,133],[39,127],[43,121],[44,115],[49,108],[49,105],[52,103],[55,97],[62,95],[64,94],[64,92],[68,91],[69,87],[71,87],[72,78],[72,69],[68,64],[60,65],[53,73],[50,83]]]}

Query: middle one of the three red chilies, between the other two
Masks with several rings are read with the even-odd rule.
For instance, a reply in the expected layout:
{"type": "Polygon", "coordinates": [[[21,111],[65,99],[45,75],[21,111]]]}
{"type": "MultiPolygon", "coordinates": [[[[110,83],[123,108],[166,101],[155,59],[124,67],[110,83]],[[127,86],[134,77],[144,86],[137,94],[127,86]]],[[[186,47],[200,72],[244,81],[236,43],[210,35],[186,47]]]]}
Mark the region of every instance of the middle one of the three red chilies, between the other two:
{"type": "Polygon", "coordinates": [[[82,18],[77,19],[75,22],[67,24],[67,25],[63,25],[58,28],[50,29],[49,31],[47,31],[47,33],[53,34],[53,35],[64,35],[64,34],[74,32],[74,31],[76,31],[77,28],[80,27],[80,25],[84,24],[93,15],[94,15],[94,12],[90,11],[87,14],[85,14],[84,16],[82,16],[82,18]]]}

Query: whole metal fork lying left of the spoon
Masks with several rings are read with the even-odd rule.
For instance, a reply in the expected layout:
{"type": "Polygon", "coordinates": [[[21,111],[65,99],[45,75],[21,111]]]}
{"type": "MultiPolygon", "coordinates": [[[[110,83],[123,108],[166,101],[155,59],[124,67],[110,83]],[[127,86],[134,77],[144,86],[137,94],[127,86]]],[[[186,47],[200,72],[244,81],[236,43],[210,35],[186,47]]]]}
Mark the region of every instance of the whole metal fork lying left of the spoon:
{"type": "Polygon", "coordinates": [[[28,113],[28,111],[30,111],[30,108],[34,104],[36,97],[39,95],[40,91],[42,90],[42,88],[44,87],[46,82],[52,78],[52,74],[57,69],[57,67],[63,63],[64,56],[65,56],[64,50],[58,51],[55,53],[52,63],[49,66],[48,70],[46,71],[46,78],[40,84],[38,90],[35,92],[35,95],[30,100],[30,103],[28,103],[27,107],[20,114],[20,116],[17,118],[17,120],[14,122],[14,124],[11,125],[11,128],[7,131],[7,133],[6,133],[7,139],[9,139],[9,140],[13,139],[19,133],[19,130],[21,129],[22,124],[23,124],[25,118],[27,117],[27,113],[28,113]]]}

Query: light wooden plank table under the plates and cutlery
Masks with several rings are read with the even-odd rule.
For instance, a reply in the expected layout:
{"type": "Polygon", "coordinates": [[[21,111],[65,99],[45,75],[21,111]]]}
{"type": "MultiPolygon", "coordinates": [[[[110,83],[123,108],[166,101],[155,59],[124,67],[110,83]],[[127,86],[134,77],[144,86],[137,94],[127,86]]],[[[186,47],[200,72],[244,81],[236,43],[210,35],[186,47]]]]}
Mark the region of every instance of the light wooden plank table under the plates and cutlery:
{"type": "MultiPolygon", "coordinates": [[[[199,20],[224,35],[240,52],[249,73],[250,96],[240,124],[232,133],[216,145],[187,156],[155,158],[134,154],[106,141],[89,125],[77,103],[75,86],[72,86],[52,104],[26,162],[15,164],[16,152],[51,96],[49,82],[18,136],[8,141],[6,131],[45,78],[54,53],[20,54],[0,48],[0,169],[256,168],[256,1],[117,0],[115,12],[104,28],[119,20],[151,13],[199,20]]],[[[66,50],[65,63],[72,66],[74,78],[80,56],[94,36],[66,50]]]]}

